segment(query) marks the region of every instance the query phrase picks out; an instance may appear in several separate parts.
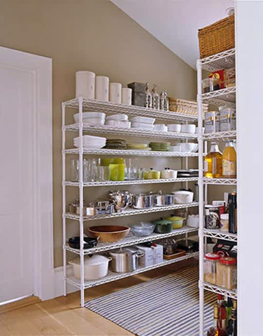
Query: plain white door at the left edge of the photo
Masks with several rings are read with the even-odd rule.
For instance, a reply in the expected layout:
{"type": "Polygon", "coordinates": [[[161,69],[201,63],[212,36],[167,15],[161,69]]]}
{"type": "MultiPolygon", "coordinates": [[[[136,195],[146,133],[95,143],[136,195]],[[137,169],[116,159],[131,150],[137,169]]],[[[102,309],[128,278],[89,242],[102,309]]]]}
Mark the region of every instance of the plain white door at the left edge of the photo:
{"type": "Polygon", "coordinates": [[[0,302],[34,294],[34,56],[0,48],[0,302]],[[2,53],[3,52],[3,53],[2,53]],[[24,62],[23,62],[24,59],[24,62]]]}

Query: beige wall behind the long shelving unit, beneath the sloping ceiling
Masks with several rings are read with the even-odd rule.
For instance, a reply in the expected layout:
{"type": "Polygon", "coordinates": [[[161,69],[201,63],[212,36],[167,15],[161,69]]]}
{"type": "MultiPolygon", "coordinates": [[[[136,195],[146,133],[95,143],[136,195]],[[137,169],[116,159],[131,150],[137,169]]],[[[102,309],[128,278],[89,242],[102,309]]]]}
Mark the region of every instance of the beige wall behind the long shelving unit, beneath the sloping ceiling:
{"type": "MultiPolygon", "coordinates": [[[[191,99],[196,95],[196,72],[105,0],[0,0],[0,45],[53,59],[54,255],[58,266],[62,263],[60,103],[74,97],[75,71],[91,70],[123,85],[148,81],[168,89],[170,95],[191,99]]],[[[157,161],[141,162],[150,166],[157,161]]],[[[178,159],[170,164],[177,165],[178,159]]],[[[98,188],[96,193],[107,191],[98,188]]],[[[68,201],[76,192],[71,190],[68,201]]],[[[88,191],[86,198],[93,198],[93,192],[88,191]]],[[[68,236],[77,233],[77,222],[67,225],[68,236]]]]}

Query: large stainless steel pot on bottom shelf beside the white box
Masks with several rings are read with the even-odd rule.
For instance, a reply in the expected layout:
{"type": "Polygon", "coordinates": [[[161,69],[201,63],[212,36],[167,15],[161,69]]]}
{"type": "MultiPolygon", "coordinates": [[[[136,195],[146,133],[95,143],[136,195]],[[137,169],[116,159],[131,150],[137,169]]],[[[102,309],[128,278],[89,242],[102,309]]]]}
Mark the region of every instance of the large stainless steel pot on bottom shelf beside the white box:
{"type": "Polygon", "coordinates": [[[134,248],[119,248],[109,251],[112,258],[109,269],[117,273],[127,273],[135,271],[139,265],[139,258],[143,256],[143,252],[134,248]]]}

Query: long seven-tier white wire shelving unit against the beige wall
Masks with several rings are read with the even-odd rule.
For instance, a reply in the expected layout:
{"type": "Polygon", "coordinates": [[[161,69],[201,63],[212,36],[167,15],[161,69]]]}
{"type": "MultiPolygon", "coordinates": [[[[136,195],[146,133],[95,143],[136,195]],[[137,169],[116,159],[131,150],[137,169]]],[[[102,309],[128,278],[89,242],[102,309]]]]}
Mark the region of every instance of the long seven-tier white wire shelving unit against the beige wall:
{"type": "MultiPolygon", "coordinates": [[[[62,207],[62,220],[63,220],[63,279],[64,287],[63,294],[67,295],[67,283],[75,285],[80,290],[80,304],[84,306],[84,289],[89,287],[94,287],[102,283],[108,283],[125,277],[129,277],[135,274],[139,274],[150,269],[161,267],[164,265],[169,265],[182,260],[186,260],[197,256],[198,253],[188,253],[185,256],[174,260],[163,261],[160,264],[152,265],[149,267],[139,267],[134,272],[118,274],[113,272],[108,272],[108,275],[102,279],[95,281],[84,281],[84,255],[91,253],[105,252],[112,248],[130,246],[133,244],[138,244],[152,239],[161,239],[165,237],[171,237],[175,235],[185,234],[186,238],[188,233],[197,231],[195,228],[184,227],[180,230],[173,230],[168,234],[152,234],[148,237],[136,238],[129,234],[125,239],[116,243],[99,243],[95,248],[84,249],[84,223],[86,221],[99,220],[99,219],[114,219],[117,217],[139,215],[144,213],[152,212],[162,212],[176,209],[188,209],[191,207],[197,207],[197,202],[192,202],[188,204],[174,204],[172,206],[166,207],[153,207],[150,209],[130,209],[125,212],[114,212],[113,214],[105,215],[95,215],[95,216],[84,216],[83,215],[83,195],[84,187],[95,187],[95,186],[118,186],[118,185],[144,185],[151,183],[175,183],[182,182],[185,183],[186,188],[188,188],[188,183],[192,181],[197,181],[198,177],[187,177],[187,178],[175,178],[175,179],[159,179],[159,180],[130,180],[130,181],[94,181],[94,182],[84,182],[82,175],[82,163],[84,155],[113,155],[113,156],[147,156],[147,157],[183,157],[185,158],[185,169],[188,169],[188,157],[198,157],[198,153],[182,153],[182,152],[157,152],[157,151],[140,151],[140,150],[116,150],[116,149],[88,149],[83,148],[82,137],[83,133],[96,133],[96,134],[116,134],[122,136],[136,136],[145,138],[159,138],[159,139],[170,139],[170,140],[197,140],[198,135],[196,134],[186,134],[186,133],[175,133],[175,132],[149,132],[147,130],[140,129],[129,129],[129,128],[117,128],[103,126],[94,126],[90,124],[82,123],[82,113],[85,110],[89,111],[102,111],[107,114],[114,113],[125,113],[132,116],[151,116],[158,120],[163,120],[167,122],[183,122],[185,124],[193,123],[197,121],[197,116],[184,115],[183,113],[175,113],[170,111],[155,110],[152,108],[144,108],[140,106],[126,106],[123,104],[116,104],[112,102],[101,102],[98,100],[86,99],[83,97],[75,98],[67,102],[62,103],[62,195],[63,195],[63,207],[62,207]],[[66,124],[66,108],[67,111],[72,111],[70,109],[77,109],[79,113],[78,124],[66,124]],[[66,134],[67,132],[77,132],[80,138],[80,148],[66,148],[66,134]],[[79,159],[79,181],[71,182],[66,180],[66,155],[78,155],[79,159]],[[80,214],[74,214],[66,212],[66,187],[73,186],[78,187],[79,192],[79,203],[80,203],[80,214]],[[79,236],[80,236],[80,249],[70,248],[67,244],[67,234],[66,234],[66,223],[67,220],[76,220],[79,222],[79,236]],[[72,275],[67,273],[67,252],[73,252],[79,255],[80,258],[80,279],[74,278],[72,275]]],[[[73,117],[73,113],[72,113],[73,117]]],[[[67,119],[68,120],[68,119],[67,119]]]]}

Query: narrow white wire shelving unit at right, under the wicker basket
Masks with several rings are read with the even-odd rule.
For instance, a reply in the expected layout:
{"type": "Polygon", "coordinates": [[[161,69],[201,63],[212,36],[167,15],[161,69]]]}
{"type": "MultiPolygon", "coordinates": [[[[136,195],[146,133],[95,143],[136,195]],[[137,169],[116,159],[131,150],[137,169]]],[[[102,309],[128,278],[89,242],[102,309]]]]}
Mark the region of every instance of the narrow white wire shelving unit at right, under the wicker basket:
{"type": "Polygon", "coordinates": [[[215,239],[225,239],[237,243],[237,234],[222,232],[220,230],[207,230],[204,228],[204,205],[207,202],[208,185],[236,185],[237,179],[225,178],[205,178],[203,176],[203,155],[207,153],[207,141],[225,141],[236,139],[237,132],[217,132],[202,134],[203,111],[202,104],[212,104],[216,106],[235,106],[236,88],[229,87],[220,90],[202,93],[202,71],[216,71],[235,67],[235,49],[227,50],[203,59],[197,60],[197,103],[198,103],[198,152],[199,152],[199,335],[204,335],[204,290],[217,294],[227,295],[232,299],[237,299],[237,292],[230,291],[219,286],[204,282],[204,254],[207,237],[215,239]]]}

